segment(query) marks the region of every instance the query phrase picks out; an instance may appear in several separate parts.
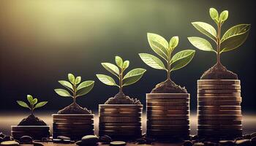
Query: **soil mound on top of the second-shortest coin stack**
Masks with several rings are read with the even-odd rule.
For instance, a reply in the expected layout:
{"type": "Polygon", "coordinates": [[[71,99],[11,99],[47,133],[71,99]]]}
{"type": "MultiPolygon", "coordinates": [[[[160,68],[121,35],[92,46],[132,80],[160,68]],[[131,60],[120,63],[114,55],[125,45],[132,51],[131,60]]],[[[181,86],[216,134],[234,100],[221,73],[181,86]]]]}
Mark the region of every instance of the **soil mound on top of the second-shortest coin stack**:
{"type": "Polygon", "coordinates": [[[86,107],[80,107],[76,102],[73,102],[64,109],[59,110],[58,114],[91,114],[91,110],[87,110],[86,107]]]}

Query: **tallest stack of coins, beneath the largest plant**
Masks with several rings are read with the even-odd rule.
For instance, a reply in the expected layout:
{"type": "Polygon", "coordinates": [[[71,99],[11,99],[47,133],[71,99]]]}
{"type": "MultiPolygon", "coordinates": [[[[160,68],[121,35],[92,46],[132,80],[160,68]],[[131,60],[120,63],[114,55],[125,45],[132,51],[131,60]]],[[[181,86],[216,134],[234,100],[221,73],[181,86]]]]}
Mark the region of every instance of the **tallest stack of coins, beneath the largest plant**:
{"type": "Polygon", "coordinates": [[[197,80],[199,137],[242,135],[240,80],[197,80]]]}

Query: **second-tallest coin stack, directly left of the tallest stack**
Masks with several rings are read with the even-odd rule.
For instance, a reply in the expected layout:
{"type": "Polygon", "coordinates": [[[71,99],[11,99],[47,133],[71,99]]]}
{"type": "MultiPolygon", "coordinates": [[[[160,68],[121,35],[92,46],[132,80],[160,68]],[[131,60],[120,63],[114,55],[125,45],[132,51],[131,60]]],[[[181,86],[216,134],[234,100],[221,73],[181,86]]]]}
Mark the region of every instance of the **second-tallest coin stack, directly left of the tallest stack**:
{"type": "Polygon", "coordinates": [[[187,139],[189,136],[189,94],[147,93],[147,137],[187,139]]]}

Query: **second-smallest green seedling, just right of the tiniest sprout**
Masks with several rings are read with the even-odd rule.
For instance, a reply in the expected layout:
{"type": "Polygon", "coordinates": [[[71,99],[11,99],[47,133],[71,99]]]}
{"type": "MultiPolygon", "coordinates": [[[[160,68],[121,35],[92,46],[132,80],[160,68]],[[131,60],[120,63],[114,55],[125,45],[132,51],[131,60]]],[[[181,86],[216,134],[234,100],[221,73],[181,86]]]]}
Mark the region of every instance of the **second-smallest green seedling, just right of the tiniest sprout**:
{"type": "Polygon", "coordinates": [[[75,77],[73,74],[68,74],[67,77],[69,81],[59,80],[59,83],[67,88],[68,91],[60,88],[54,89],[54,91],[59,94],[59,96],[72,97],[73,103],[75,103],[75,99],[78,96],[86,95],[86,93],[89,93],[89,91],[94,88],[93,80],[81,82],[81,77],[75,77]]]}

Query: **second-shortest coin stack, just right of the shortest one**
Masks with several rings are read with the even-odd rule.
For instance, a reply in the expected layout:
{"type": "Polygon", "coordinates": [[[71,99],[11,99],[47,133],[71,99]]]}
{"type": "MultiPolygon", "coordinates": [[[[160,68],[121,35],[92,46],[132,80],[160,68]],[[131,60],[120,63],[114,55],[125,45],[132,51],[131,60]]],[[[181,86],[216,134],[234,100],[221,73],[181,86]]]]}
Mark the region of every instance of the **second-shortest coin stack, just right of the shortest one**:
{"type": "Polygon", "coordinates": [[[94,134],[93,114],[53,114],[53,138],[78,140],[89,134],[94,134]]]}

